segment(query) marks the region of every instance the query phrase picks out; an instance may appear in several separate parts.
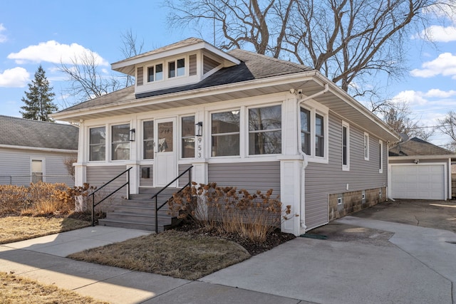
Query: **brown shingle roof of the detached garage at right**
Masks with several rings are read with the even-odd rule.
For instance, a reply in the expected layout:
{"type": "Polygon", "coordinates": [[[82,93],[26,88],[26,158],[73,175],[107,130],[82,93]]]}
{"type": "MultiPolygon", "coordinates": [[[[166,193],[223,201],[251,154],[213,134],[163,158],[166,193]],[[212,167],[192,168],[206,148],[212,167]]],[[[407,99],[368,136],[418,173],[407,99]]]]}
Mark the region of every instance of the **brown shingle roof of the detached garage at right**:
{"type": "Polygon", "coordinates": [[[406,142],[400,142],[391,147],[388,153],[390,156],[418,156],[418,155],[452,155],[450,150],[432,145],[430,142],[413,137],[406,142]]]}

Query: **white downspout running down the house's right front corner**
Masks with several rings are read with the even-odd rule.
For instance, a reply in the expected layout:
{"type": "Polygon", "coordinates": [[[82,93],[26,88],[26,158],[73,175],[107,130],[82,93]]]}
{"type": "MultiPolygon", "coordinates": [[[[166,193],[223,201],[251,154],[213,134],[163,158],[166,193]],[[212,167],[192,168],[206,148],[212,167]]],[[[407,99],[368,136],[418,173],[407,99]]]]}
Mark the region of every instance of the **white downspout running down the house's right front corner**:
{"type": "MultiPolygon", "coordinates": [[[[299,121],[301,120],[301,103],[304,103],[307,100],[310,100],[312,98],[316,98],[317,96],[328,92],[328,90],[329,90],[329,85],[328,85],[328,83],[325,83],[325,86],[324,86],[323,90],[321,90],[320,92],[314,93],[314,94],[312,94],[310,96],[306,96],[305,98],[301,98],[301,99],[297,98],[298,100],[297,100],[297,103],[296,103],[296,110],[297,110],[297,113],[298,113],[298,120],[297,120],[298,124],[300,124],[299,121]]],[[[300,131],[298,132],[297,140],[298,140],[298,143],[301,142],[301,132],[300,131]]],[[[299,221],[300,224],[299,224],[299,226],[300,226],[301,229],[304,229],[304,232],[305,232],[306,229],[307,229],[306,217],[305,217],[306,216],[306,210],[305,210],[305,208],[303,208],[303,206],[305,206],[305,202],[306,202],[305,177],[306,177],[306,167],[309,164],[309,161],[308,161],[307,154],[302,152],[301,147],[298,147],[298,152],[299,152],[299,154],[301,154],[301,156],[304,159],[302,167],[301,167],[301,187],[299,188],[299,190],[301,192],[300,193],[300,196],[301,196],[300,201],[301,201],[301,203],[299,204],[299,209],[300,209],[299,210],[299,216],[300,216],[300,221],[299,221]]]]}

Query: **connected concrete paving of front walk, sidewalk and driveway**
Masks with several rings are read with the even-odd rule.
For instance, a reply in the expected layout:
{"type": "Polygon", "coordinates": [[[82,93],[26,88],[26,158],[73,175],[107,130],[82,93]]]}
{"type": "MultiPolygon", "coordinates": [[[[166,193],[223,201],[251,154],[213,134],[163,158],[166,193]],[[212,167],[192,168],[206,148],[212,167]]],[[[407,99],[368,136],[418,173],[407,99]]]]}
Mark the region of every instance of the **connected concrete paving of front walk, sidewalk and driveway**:
{"type": "Polygon", "coordinates": [[[96,226],[0,246],[0,271],[110,303],[453,303],[456,234],[346,216],[390,242],[297,238],[199,281],[64,258],[149,234],[96,226]]]}

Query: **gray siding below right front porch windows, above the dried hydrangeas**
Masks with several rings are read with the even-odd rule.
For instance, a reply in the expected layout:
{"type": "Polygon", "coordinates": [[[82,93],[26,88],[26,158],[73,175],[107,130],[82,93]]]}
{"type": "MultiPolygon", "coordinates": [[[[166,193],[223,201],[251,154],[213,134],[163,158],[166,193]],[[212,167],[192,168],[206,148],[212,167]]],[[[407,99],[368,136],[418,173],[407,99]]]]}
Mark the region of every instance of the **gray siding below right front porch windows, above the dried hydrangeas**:
{"type": "Polygon", "coordinates": [[[220,187],[237,187],[250,193],[273,189],[274,197],[280,194],[280,162],[209,164],[207,171],[208,181],[220,187]]]}

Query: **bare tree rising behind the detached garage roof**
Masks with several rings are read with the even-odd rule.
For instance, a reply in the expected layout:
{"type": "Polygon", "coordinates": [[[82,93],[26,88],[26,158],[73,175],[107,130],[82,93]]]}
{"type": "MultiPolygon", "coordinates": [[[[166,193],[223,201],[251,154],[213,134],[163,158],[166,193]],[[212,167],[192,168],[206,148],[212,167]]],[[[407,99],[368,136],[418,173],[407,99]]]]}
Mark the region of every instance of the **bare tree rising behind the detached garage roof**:
{"type": "Polygon", "coordinates": [[[418,137],[427,140],[434,135],[435,130],[427,130],[427,127],[418,125],[418,120],[412,116],[412,111],[407,103],[391,104],[390,108],[383,112],[383,121],[398,133],[408,137],[418,137]]]}

